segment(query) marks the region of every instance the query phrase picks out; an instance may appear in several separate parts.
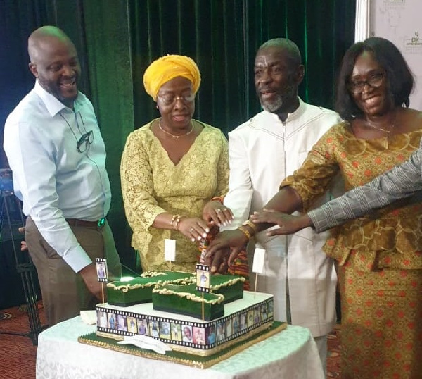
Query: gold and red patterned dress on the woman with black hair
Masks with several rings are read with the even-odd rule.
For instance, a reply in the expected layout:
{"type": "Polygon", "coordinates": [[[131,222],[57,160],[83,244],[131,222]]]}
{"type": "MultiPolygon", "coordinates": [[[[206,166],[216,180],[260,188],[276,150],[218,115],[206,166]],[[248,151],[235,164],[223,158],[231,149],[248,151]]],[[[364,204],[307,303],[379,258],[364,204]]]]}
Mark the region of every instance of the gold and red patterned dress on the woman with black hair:
{"type": "MultiPolygon", "coordinates": [[[[305,209],[340,170],[345,189],[404,162],[422,131],[357,139],[350,124],[329,130],[292,185],[305,209]]],[[[422,378],[421,194],[331,230],[325,251],[339,263],[342,378],[422,378]]]]}

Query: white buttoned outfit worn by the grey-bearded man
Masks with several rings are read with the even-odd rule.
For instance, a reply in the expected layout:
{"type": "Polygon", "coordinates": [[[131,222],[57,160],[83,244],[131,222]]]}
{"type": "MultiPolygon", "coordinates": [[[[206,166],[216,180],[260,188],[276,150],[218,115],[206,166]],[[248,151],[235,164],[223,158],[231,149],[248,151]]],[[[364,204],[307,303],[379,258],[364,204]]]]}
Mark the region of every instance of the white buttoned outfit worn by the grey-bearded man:
{"type": "MultiPolygon", "coordinates": [[[[230,180],[224,204],[234,213],[230,229],[262,209],[282,180],[302,165],[315,142],[341,120],[334,111],[299,101],[285,123],[262,111],[229,132],[230,180]]],[[[327,193],[322,201],[331,196],[327,193]]],[[[291,236],[265,234],[255,237],[267,251],[257,289],[274,294],[274,318],[286,321],[290,311],[293,325],[309,328],[314,337],[326,335],[335,323],[336,283],[333,261],[322,251],[326,233],[306,228],[291,236]]]]}

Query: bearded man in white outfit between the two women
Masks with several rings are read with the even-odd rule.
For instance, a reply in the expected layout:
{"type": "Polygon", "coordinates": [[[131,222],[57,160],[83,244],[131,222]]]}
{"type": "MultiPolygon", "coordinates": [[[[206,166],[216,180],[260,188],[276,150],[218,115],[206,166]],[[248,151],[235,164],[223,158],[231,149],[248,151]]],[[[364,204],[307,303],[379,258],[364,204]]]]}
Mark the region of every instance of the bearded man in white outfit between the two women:
{"type": "MultiPolygon", "coordinates": [[[[207,259],[235,247],[233,240],[240,240],[240,246],[248,242],[255,234],[254,225],[242,224],[250,213],[262,209],[281,181],[301,166],[315,142],[340,122],[334,111],[306,104],[298,97],[304,67],[298,46],[290,40],[271,39],[260,46],[254,72],[264,111],[229,132],[230,181],[224,205],[233,211],[234,220],[226,230],[239,226],[241,230],[220,233],[211,242],[207,259]]],[[[330,197],[326,194],[323,200],[330,197]]],[[[255,236],[255,242],[267,251],[257,290],[274,294],[276,320],[311,330],[324,369],[326,337],[335,323],[337,280],[333,261],[321,251],[326,237],[311,228],[289,237],[267,237],[265,232],[255,236]]],[[[219,262],[213,266],[212,272],[219,262]]],[[[250,278],[254,280],[255,275],[250,278]]]]}

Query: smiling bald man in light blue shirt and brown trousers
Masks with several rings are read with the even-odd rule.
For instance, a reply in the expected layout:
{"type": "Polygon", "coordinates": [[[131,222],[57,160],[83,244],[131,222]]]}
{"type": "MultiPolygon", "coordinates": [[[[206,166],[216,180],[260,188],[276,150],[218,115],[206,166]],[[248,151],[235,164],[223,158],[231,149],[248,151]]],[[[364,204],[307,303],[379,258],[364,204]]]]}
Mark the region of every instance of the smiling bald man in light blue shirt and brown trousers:
{"type": "Polygon", "coordinates": [[[91,102],[77,90],[75,45],[53,26],[28,39],[34,89],[6,120],[4,149],[27,216],[25,240],[37,268],[49,325],[101,299],[96,257],[120,275],[106,221],[106,149],[91,102]]]}

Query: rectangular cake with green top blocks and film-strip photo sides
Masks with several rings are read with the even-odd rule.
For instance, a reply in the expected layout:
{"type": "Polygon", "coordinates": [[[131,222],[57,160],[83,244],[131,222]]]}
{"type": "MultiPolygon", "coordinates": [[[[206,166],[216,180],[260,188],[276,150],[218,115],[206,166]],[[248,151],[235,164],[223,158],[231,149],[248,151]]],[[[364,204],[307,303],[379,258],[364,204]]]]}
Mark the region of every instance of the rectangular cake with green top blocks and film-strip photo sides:
{"type": "Polygon", "coordinates": [[[96,334],[146,335],[178,352],[210,356],[271,328],[273,296],[243,291],[243,282],[211,275],[210,292],[199,292],[196,275],[173,271],[110,282],[108,303],[96,306],[96,334]]]}

